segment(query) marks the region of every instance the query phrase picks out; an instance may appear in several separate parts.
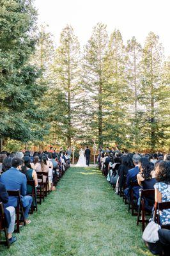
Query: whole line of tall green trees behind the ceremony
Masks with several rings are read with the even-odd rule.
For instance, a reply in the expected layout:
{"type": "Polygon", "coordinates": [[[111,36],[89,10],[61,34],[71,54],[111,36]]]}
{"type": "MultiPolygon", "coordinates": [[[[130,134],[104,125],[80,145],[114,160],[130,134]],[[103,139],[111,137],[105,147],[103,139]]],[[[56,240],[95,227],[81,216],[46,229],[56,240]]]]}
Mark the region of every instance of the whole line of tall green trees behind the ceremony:
{"type": "MultiPolygon", "coordinates": [[[[83,49],[71,25],[59,45],[31,0],[0,0],[1,150],[98,145],[169,150],[170,58],[98,22],[83,49]]],[[[114,24],[113,24],[114,27],[114,24]]]]}

